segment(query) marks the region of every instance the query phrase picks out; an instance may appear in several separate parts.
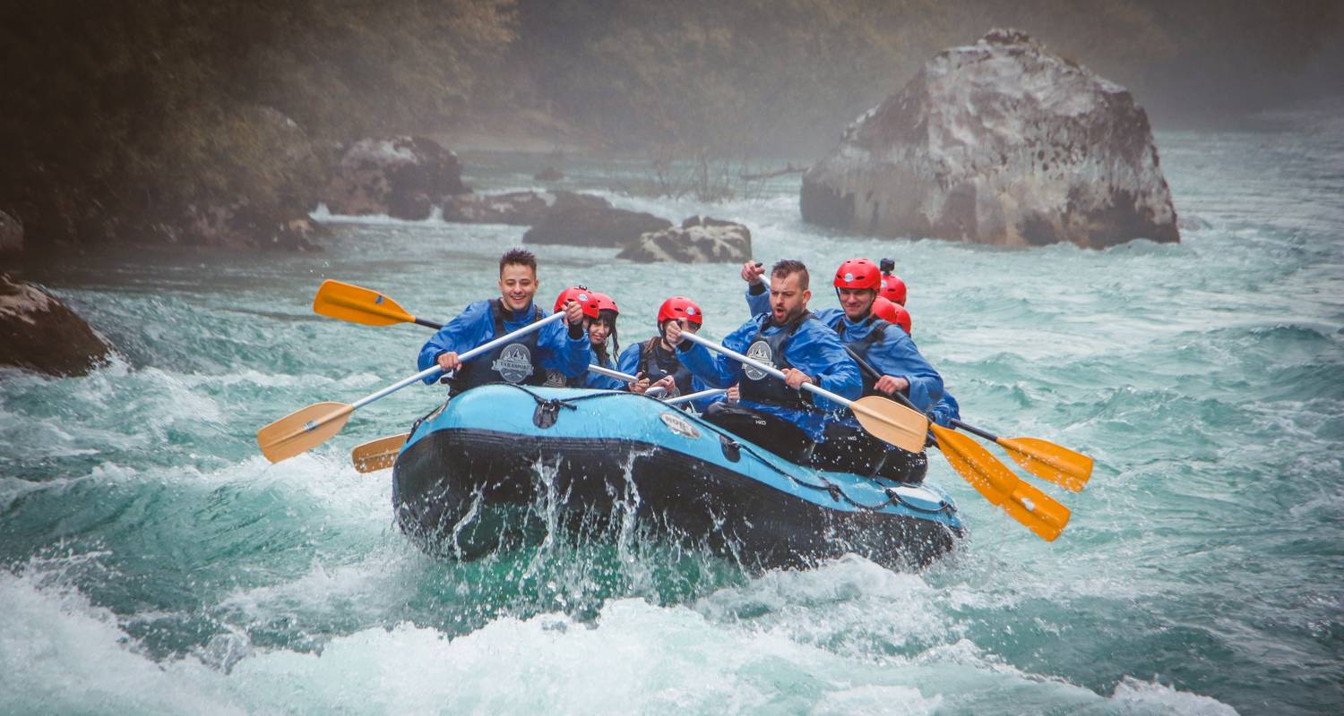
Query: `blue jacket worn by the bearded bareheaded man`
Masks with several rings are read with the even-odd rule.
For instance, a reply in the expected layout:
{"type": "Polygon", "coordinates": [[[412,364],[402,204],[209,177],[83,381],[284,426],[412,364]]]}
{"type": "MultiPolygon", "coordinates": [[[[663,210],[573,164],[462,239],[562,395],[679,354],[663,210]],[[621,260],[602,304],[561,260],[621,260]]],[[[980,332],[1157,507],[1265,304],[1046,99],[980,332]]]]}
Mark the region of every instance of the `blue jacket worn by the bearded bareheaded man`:
{"type": "MultiPolygon", "coordinates": [[[[742,324],[742,326],[732,333],[728,333],[728,336],[723,339],[723,345],[739,353],[746,353],[747,348],[751,345],[751,340],[755,339],[761,322],[766,322],[766,328],[762,332],[765,336],[773,336],[780,330],[785,330],[785,328],[770,324],[766,318],[757,316],[755,318],[742,324]]],[[[710,349],[703,345],[689,345],[691,348],[688,349],[677,347],[677,356],[680,356],[683,365],[689,368],[696,377],[707,383],[710,387],[727,388],[742,379],[742,364],[737,360],[719,353],[711,353],[710,349]]],[[[793,334],[793,339],[785,345],[784,357],[794,368],[810,376],[820,377],[821,388],[840,395],[841,398],[853,400],[863,392],[863,380],[859,377],[859,365],[849,357],[849,353],[845,353],[844,347],[840,344],[840,339],[836,336],[835,330],[831,330],[820,321],[804,321],[802,325],[798,326],[798,330],[793,334]]],[[[775,379],[767,377],[766,380],[775,379]]],[[[845,408],[832,404],[829,400],[823,398],[813,396],[813,400],[817,406],[816,410],[793,410],[774,404],[757,403],[753,400],[742,400],[742,404],[745,407],[778,415],[790,420],[806,431],[812,439],[821,441],[827,414],[845,408]]],[[[845,410],[845,412],[848,411],[845,410]]]]}

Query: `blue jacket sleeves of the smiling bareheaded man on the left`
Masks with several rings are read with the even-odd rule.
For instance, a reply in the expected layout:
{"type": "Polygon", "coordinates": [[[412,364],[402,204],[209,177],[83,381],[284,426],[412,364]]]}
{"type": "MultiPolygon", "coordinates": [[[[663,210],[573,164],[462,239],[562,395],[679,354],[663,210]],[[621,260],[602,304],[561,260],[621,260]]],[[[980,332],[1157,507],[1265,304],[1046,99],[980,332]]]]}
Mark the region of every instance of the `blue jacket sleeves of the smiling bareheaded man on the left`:
{"type": "MultiPolygon", "coordinates": [[[[504,332],[512,333],[532,322],[534,309],[532,304],[528,304],[523,310],[513,312],[513,316],[504,320],[504,332]]],[[[542,309],[542,317],[550,316],[546,309],[542,309]]],[[[556,321],[542,326],[538,330],[536,347],[540,353],[540,363],[543,368],[556,369],[566,376],[581,376],[587,373],[589,359],[593,356],[593,347],[589,343],[587,333],[581,333],[579,337],[571,339],[569,334],[569,324],[564,321],[556,321]]],[[[476,301],[474,304],[466,306],[462,313],[458,313],[456,318],[438,329],[437,333],[430,336],[425,341],[425,347],[421,348],[419,359],[417,364],[419,369],[423,371],[434,361],[438,360],[441,353],[448,353],[449,351],[456,351],[458,353],[465,353],[477,345],[484,345],[497,336],[495,334],[495,321],[491,318],[491,302],[489,301],[476,301]]],[[[426,384],[433,384],[439,376],[430,376],[425,379],[426,384]]]]}

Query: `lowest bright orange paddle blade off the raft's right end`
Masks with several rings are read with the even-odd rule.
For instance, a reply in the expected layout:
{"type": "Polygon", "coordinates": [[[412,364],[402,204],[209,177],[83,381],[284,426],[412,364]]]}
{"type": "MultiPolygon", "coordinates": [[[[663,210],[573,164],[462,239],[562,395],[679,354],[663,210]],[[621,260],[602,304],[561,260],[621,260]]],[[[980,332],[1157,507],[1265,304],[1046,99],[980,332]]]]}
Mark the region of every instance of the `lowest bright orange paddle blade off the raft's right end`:
{"type": "Polygon", "coordinates": [[[1068,524],[1068,508],[1023,482],[980,443],[939,424],[931,427],[952,467],[986,500],[1001,505],[1009,517],[1046,541],[1054,541],[1068,524]]]}

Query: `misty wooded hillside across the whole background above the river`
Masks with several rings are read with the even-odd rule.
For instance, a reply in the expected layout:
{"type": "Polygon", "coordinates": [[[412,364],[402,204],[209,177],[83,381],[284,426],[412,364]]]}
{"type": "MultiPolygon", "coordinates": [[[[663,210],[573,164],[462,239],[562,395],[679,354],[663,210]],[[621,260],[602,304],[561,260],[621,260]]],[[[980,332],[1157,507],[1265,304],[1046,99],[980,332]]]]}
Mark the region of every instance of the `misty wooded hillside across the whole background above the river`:
{"type": "Polygon", "coordinates": [[[991,27],[1198,120],[1313,91],[1293,78],[1341,23],[1337,0],[11,3],[0,211],[54,246],[219,195],[305,207],[341,142],[512,111],[614,152],[816,154],[991,27]]]}

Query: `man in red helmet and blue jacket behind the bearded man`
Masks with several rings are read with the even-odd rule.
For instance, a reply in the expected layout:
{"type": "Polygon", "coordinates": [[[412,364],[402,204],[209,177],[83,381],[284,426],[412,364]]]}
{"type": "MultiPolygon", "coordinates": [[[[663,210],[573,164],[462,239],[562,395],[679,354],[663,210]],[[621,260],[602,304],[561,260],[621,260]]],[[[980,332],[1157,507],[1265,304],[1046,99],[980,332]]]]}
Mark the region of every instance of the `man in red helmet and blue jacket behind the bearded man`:
{"type": "MultiPolygon", "coordinates": [[[[747,281],[747,305],[763,306],[758,286],[751,285],[750,265],[742,269],[747,281]]],[[[847,349],[874,372],[863,371],[863,394],[891,396],[898,391],[921,411],[929,411],[942,396],[942,376],[929,365],[914,341],[900,328],[874,314],[882,286],[876,263],[855,258],[836,270],[836,297],[840,308],[821,309],[817,320],[831,326],[847,349]]],[[[862,474],[880,474],[905,482],[919,482],[929,469],[923,453],[907,453],[868,435],[853,415],[841,415],[825,426],[824,446],[814,458],[818,465],[862,474]]]]}

